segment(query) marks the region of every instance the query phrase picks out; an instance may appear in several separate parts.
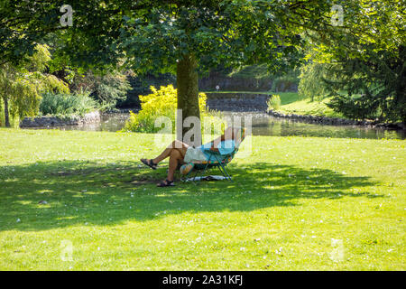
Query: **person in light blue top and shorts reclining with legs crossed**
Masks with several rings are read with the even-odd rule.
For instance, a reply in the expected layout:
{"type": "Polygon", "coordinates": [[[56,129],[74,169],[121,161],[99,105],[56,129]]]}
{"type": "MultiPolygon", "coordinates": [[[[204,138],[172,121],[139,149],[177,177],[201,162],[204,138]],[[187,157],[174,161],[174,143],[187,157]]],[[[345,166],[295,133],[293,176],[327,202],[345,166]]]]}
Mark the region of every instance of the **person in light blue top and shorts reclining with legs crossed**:
{"type": "MultiPolygon", "coordinates": [[[[210,154],[205,152],[205,150],[219,153],[220,158],[221,155],[232,153],[235,150],[235,144],[240,143],[240,132],[240,128],[233,126],[227,127],[223,135],[218,136],[208,144],[202,144],[198,147],[193,147],[189,144],[182,143],[179,140],[175,140],[156,158],[141,159],[141,162],[151,167],[152,170],[156,170],[158,163],[169,157],[168,176],[165,181],[158,184],[158,187],[173,186],[173,177],[179,164],[207,162],[210,154]]],[[[219,159],[219,161],[221,161],[221,159],[219,159]]]]}

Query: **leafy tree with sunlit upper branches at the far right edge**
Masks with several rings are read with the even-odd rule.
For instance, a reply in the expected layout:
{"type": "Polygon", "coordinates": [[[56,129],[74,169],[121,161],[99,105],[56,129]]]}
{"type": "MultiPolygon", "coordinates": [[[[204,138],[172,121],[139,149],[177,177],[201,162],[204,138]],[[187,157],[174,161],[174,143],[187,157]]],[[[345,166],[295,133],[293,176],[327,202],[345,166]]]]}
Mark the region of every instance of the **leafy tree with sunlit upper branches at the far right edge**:
{"type": "Polygon", "coordinates": [[[330,107],[352,118],[406,123],[404,1],[346,1],[342,27],[308,33],[330,107]],[[345,93],[343,93],[343,91],[345,93]]]}

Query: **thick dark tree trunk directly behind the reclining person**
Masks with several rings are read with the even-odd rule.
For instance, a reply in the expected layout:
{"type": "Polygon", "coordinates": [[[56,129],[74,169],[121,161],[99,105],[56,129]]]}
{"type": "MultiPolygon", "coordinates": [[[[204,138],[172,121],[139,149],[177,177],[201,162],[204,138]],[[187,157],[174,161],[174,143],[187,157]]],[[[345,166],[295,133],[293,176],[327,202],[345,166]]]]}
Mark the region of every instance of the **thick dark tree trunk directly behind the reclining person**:
{"type": "MultiPolygon", "coordinates": [[[[190,145],[201,144],[200,110],[198,107],[198,61],[193,54],[184,55],[178,62],[176,70],[176,82],[178,89],[178,115],[177,115],[177,139],[190,145]],[[187,117],[197,117],[198,124],[185,127],[184,120],[187,117]],[[182,126],[180,127],[180,124],[182,126]],[[198,126],[198,127],[195,127],[198,126]],[[187,132],[193,129],[194,137],[188,136],[187,132]],[[198,128],[198,129],[197,129],[198,128]],[[185,137],[187,136],[187,137],[185,137]]],[[[188,121],[187,121],[188,123],[188,121]]],[[[187,124],[188,125],[188,124],[187,124]]]]}

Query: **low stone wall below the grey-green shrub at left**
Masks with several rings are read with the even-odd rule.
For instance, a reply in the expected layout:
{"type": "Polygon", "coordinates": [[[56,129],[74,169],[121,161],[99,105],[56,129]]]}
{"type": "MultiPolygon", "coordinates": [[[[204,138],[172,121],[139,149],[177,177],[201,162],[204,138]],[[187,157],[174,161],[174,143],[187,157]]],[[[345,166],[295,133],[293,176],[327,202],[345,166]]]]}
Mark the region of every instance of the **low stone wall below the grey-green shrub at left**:
{"type": "Polygon", "coordinates": [[[90,112],[83,117],[25,117],[20,122],[20,127],[37,127],[37,126],[78,126],[88,123],[96,123],[100,121],[100,113],[98,111],[90,112]]]}

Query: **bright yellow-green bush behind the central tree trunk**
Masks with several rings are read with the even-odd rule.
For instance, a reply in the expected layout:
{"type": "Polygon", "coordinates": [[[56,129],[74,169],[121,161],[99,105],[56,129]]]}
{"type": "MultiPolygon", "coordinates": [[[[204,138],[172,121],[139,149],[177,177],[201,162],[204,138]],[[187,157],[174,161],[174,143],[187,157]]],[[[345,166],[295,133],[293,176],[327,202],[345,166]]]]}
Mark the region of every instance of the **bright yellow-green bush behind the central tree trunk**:
{"type": "MultiPolygon", "coordinates": [[[[175,119],[177,109],[177,90],[172,85],[155,89],[151,87],[152,94],[140,96],[141,110],[135,114],[130,112],[130,118],[126,121],[123,131],[157,133],[161,127],[155,127],[155,121],[158,117],[169,117],[171,120],[172,133],[175,133],[175,119]]],[[[217,111],[208,111],[206,109],[206,95],[200,93],[198,95],[198,106],[200,108],[200,117],[204,117],[212,124],[215,124],[214,134],[221,133],[217,126],[222,122],[222,115],[217,111]]],[[[204,129],[204,121],[202,120],[202,130],[204,129]]]]}

